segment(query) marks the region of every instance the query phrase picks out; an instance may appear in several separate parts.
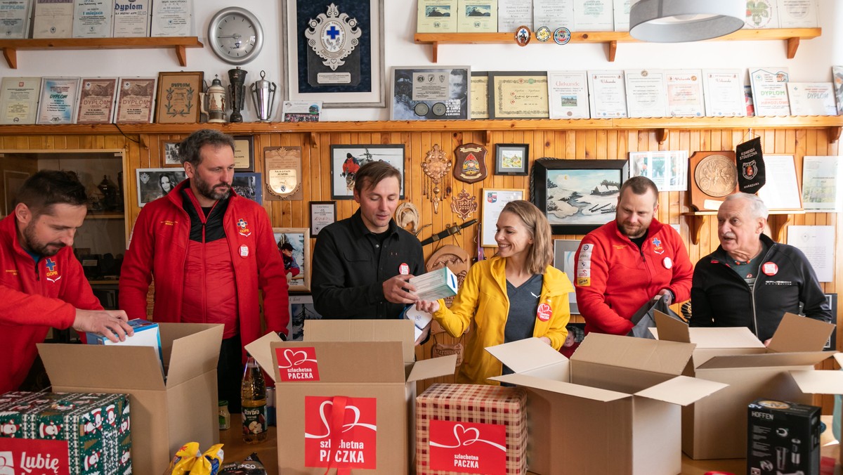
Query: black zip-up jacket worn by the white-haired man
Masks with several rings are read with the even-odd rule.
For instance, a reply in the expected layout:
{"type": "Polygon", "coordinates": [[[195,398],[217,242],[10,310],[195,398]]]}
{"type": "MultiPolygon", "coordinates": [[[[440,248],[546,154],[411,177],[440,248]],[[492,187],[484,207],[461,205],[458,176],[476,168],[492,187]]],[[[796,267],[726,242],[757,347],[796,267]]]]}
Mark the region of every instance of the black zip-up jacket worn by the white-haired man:
{"type": "Polygon", "coordinates": [[[722,247],[700,259],[690,289],[691,327],[749,327],[762,342],[773,336],[785,312],[831,321],[817,276],[802,251],[766,235],[767,252],[752,289],[718,258],[722,247]]]}

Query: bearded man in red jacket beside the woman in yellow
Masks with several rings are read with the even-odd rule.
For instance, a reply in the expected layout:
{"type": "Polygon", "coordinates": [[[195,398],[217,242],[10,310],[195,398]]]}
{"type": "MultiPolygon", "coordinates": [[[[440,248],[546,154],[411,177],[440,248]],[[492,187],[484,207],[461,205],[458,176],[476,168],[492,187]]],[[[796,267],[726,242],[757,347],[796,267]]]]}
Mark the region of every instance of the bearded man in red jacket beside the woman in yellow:
{"type": "Polygon", "coordinates": [[[675,229],[654,219],[658,188],[645,176],[620,186],[615,220],[583,238],[577,261],[577,305],[585,332],[626,335],[636,310],[657,295],[688,300],[693,266],[675,229]]]}

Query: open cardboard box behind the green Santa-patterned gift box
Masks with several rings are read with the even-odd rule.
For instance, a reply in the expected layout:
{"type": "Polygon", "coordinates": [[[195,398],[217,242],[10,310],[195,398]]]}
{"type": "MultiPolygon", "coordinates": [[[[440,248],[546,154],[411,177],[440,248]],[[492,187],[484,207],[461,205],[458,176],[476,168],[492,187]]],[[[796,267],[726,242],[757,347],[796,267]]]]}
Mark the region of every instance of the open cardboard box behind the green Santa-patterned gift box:
{"type": "Polygon", "coordinates": [[[132,397],[132,466],[159,473],[186,442],[219,442],[217,359],[223,326],[159,323],[167,370],[150,347],[40,343],[53,391],[132,397]]]}

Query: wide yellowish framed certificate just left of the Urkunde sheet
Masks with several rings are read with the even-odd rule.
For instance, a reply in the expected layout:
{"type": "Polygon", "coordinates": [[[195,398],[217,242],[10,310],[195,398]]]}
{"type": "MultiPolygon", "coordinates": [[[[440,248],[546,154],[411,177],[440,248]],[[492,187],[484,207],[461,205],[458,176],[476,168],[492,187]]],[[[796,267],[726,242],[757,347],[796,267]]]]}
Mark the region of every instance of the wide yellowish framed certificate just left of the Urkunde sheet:
{"type": "Polygon", "coordinates": [[[490,119],[546,119],[547,73],[489,72],[490,119]]]}

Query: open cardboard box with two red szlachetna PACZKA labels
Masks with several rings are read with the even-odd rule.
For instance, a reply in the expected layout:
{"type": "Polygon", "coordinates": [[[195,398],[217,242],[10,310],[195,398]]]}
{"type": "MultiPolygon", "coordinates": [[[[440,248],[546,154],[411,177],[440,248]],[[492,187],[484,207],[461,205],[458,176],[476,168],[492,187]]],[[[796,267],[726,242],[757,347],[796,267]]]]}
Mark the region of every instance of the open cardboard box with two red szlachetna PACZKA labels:
{"type": "Polygon", "coordinates": [[[308,320],[303,342],[272,333],[246,349],[276,381],[279,473],[409,473],[416,381],[453,375],[456,356],[414,362],[408,320],[308,320]],[[342,418],[332,418],[336,408],[342,418]],[[337,451],[331,448],[336,447],[337,451]]]}

